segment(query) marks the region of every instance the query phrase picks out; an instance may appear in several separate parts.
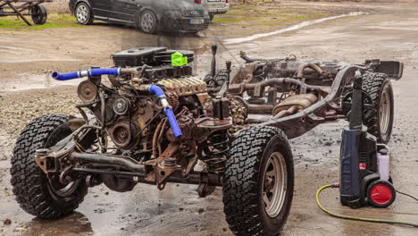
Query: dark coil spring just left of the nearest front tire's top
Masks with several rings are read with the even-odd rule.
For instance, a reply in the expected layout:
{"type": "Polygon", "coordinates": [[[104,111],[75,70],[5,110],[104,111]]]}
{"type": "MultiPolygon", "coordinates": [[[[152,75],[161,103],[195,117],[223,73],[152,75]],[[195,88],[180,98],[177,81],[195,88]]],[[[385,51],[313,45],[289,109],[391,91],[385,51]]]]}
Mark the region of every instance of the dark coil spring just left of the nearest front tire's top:
{"type": "Polygon", "coordinates": [[[228,131],[215,131],[208,137],[204,161],[209,172],[223,173],[225,171],[225,162],[230,153],[229,142],[228,131]]]}

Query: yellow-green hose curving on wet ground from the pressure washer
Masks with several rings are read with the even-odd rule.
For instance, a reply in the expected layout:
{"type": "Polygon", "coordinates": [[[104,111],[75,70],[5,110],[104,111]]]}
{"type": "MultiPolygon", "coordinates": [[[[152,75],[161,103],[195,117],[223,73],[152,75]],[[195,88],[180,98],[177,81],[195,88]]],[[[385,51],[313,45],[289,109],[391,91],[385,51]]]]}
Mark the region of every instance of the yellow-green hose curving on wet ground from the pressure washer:
{"type": "Polygon", "coordinates": [[[339,215],[339,214],[332,213],[329,210],[327,210],[326,208],[324,208],[321,205],[321,202],[319,200],[320,193],[322,192],[322,190],[325,190],[325,189],[328,189],[328,188],[339,188],[339,183],[332,183],[332,184],[322,186],[319,190],[316,191],[316,204],[321,208],[321,210],[324,213],[326,213],[328,215],[331,215],[331,216],[337,217],[337,218],[341,218],[341,219],[353,220],[353,221],[363,221],[363,222],[372,222],[372,223],[396,223],[396,224],[402,224],[402,225],[407,225],[407,226],[412,226],[412,227],[418,227],[418,223],[408,223],[408,222],[393,221],[393,220],[364,218],[364,217],[356,217],[356,216],[350,216],[350,215],[339,215]]]}

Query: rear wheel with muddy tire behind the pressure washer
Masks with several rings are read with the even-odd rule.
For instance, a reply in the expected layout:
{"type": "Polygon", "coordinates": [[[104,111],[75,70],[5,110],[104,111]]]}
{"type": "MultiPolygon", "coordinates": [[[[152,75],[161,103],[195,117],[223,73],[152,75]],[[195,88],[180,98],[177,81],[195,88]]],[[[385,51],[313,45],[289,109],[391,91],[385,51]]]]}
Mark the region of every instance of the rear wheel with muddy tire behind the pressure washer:
{"type": "Polygon", "coordinates": [[[363,90],[372,98],[372,114],[364,119],[368,131],[376,136],[378,142],[388,143],[392,133],[394,101],[393,89],[384,73],[365,72],[363,90]]]}

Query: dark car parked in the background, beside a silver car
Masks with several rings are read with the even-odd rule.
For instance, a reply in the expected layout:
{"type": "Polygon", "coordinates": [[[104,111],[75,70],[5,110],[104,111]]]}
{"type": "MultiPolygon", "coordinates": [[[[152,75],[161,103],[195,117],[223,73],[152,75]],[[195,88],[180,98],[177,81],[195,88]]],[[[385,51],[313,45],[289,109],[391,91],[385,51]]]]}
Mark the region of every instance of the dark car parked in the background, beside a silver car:
{"type": "Polygon", "coordinates": [[[150,34],[197,32],[210,21],[200,0],[70,0],[70,11],[81,24],[122,23],[150,34]]]}

